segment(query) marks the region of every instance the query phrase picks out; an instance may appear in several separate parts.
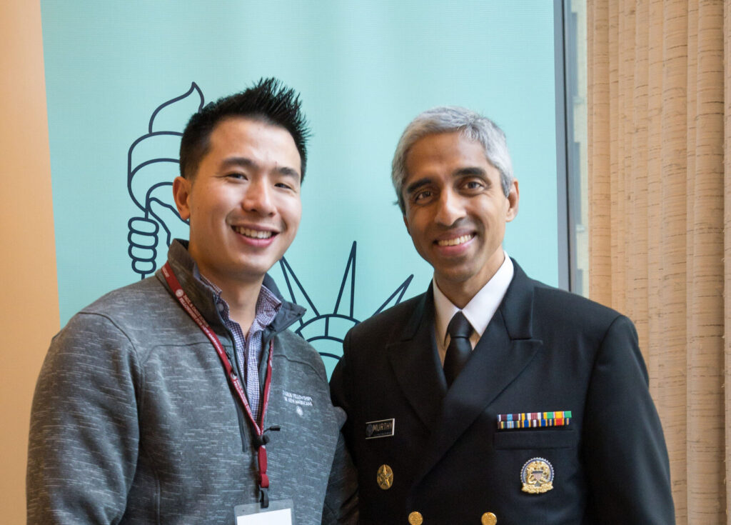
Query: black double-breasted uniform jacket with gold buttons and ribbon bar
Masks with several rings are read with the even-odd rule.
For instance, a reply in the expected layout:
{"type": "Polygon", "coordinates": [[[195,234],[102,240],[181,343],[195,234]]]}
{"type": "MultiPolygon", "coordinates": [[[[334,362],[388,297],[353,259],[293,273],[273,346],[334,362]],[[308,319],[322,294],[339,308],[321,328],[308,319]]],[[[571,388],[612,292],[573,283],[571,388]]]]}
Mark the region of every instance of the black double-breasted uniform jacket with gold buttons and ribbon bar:
{"type": "Polygon", "coordinates": [[[431,287],[353,328],[330,388],[348,413],[360,523],[672,525],[670,468],[632,322],[515,276],[447,390],[431,287]],[[499,414],[572,412],[567,426],[498,430],[499,414]],[[393,437],[366,423],[394,420],[393,437]],[[542,458],[553,488],[522,490],[542,458]],[[376,483],[393,470],[393,485],[376,483]],[[488,515],[483,518],[486,513],[488,515]],[[482,521],[482,520],[485,521],[482,521]]]}

